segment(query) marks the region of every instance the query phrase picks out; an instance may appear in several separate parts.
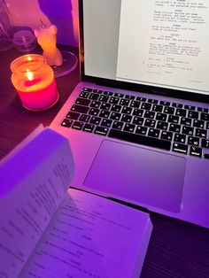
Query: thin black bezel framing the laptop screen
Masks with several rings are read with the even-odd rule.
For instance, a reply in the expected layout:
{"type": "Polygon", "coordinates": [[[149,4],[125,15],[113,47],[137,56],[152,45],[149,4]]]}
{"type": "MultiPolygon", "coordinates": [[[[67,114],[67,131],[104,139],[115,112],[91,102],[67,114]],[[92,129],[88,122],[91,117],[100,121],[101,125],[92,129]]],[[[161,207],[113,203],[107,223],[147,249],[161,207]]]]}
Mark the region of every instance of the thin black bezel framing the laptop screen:
{"type": "Polygon", "coordinates": [[[178,89],[167,89],[162,87],[155,87],[151,85],[144,85],[138,83],[130,83],[126,81],[116,81],[106,78],[100,78],[97,76],[89,76],[85,74],[85,53],[84,53],[84,34],[83,34],[83,0],[79,0],[79,57],[80,57],[80,73],[81,81],[92,82],[97,85],[112,87],[118,89],[128,89],[138,91],[151,95],[174,97],[185,100],[191,100],[196,102],[209,103],[209,96],[207,94],[197,94],[194,92],[188,92],[178,89]]]}

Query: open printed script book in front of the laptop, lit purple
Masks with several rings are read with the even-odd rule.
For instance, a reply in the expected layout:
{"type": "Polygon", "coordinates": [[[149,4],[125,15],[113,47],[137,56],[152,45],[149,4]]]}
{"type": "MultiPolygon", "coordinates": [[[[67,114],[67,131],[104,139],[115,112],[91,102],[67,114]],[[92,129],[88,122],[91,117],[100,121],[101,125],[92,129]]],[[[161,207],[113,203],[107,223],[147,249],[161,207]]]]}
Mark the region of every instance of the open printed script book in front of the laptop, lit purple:
{"type": "Polygon", "coordinates": [[[77,189],[68,141],[36,131],[0,166],[0,277],[139,277],[149,214],[77,189]]]}

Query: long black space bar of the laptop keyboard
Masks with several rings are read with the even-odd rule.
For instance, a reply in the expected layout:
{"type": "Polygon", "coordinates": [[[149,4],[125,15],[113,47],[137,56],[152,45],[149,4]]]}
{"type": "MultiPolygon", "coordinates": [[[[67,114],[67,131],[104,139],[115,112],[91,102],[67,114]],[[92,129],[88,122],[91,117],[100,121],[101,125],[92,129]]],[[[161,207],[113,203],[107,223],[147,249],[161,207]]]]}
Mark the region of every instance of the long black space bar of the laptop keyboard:
{"type": "Polygon", "coordinates": [[[169,151],[171,148],[171,143],[165,140],[159,140],[157,138],[152,138],[148,136],[128,133],[125,131],[120,131],[116,129],[111,129],[109,136],[112,138],[117,138],[120,140],[128,141],[131,143],[143,144],[145,146],[159,148],[162,150],[169,151]]]}

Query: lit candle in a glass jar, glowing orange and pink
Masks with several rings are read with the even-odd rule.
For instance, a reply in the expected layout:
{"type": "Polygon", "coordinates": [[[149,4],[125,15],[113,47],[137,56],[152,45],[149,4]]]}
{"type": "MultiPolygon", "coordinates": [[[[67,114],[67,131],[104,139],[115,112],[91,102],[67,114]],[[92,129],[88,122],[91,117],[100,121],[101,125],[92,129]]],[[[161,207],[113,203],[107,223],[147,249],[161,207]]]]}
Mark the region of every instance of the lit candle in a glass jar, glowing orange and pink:
{"type": "Polygon", "coordinates": [[[12,61],[12,84],[23,106],[40,111],[58,101],[58,90],[53,70],[42,55],[27,54],[12,61]]]}

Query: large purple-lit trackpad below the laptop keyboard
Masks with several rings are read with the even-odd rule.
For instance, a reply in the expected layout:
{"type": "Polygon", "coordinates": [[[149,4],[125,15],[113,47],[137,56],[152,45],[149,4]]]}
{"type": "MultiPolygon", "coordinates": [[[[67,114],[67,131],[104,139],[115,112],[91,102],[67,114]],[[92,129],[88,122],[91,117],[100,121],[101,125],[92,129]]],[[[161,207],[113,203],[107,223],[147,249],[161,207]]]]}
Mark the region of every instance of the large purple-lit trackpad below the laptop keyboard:
{"type": "Polygon", "coordinates": [[[115,197],[180,212],[186,159],[105,140],[84,185],[115,197]]]}

